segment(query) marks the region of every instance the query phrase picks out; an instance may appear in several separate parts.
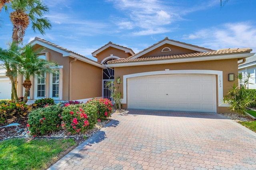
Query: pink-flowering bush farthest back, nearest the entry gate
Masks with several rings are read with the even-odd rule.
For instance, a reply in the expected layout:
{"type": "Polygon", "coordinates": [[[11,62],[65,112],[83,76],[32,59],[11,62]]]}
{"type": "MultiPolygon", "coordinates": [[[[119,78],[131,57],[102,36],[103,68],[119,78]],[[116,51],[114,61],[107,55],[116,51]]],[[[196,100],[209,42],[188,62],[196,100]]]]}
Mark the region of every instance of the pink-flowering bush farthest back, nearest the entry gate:
{"type": "Polygon", "coordinates": [[[86,104],[95,105],[97,107],[97,118],[100,120],[105,120],[107,117],[111,116],[113,105],[107,98],[94,98],[86,102],[86,104]]]}

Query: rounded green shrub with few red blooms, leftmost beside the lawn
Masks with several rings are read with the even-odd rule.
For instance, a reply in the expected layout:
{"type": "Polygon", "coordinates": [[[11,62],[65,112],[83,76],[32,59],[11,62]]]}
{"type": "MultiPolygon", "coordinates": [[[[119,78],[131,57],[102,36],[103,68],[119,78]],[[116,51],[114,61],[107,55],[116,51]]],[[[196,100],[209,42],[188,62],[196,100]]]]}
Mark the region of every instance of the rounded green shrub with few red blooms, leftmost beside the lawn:
{"type": "Polygon", "coordinates": [[[60,129],[60,114],[62,108],[58,105],[46,106],[32,110],[28,114],[30,134],[33,136],[44,135],[60,129]]]}

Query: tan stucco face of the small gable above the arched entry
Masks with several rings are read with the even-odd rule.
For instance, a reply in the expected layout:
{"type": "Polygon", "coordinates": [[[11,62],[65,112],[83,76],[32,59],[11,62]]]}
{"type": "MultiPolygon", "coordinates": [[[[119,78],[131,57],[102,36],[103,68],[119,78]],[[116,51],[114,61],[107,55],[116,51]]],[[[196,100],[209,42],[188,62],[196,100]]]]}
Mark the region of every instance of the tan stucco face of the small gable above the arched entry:
{"type": "Polygon", "coordinates": [[[116,49],[114,47],[108,47],[104,51],[98,53],[96,55],[97,61],[101,63],[106,57],[110,57],[110,55],[119,57],[119,58],[128,58],[131,56],[130,53],[125,53],[125,51],[116,49]]]}

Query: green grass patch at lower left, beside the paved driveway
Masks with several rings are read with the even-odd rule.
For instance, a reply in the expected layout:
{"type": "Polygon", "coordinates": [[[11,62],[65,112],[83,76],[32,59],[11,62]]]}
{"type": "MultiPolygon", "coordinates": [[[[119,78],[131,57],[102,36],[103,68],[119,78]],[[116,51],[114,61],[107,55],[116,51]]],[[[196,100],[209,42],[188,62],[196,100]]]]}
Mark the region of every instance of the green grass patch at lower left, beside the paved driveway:
{"type": "Polygon", "coordinates": [[[0,142],[0,170],[42,170],[58,154],[76,145],[73,139],[8,139],[0,142]]]}

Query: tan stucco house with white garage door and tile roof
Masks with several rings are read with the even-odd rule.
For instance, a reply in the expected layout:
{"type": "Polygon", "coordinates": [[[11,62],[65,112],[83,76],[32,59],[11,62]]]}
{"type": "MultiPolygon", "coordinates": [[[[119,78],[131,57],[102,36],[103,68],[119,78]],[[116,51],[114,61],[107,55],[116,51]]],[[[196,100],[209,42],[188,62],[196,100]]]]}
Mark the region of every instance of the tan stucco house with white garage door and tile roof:
{"type": "MultiPolygon", "coordinates": [[[[32,78],[30,101],[109,98],[106,82],[120,78],[124,109],[227,112],[222,99],[238,74],[238,61],[254,55],[252,49],[215,51],[166,37],[138,53],[109,42],[92,53],[94,61],[37,37],[31,44],[44,47],[39,57],[56,61],[59,74],[32,78]]],[[[18,96],[24,94],[21,84],[22,78],[18,96]]]]}

